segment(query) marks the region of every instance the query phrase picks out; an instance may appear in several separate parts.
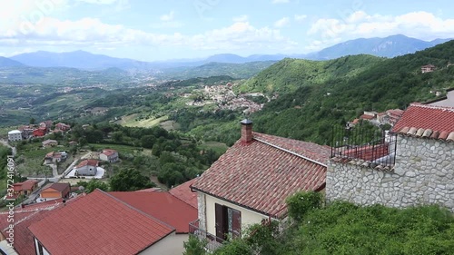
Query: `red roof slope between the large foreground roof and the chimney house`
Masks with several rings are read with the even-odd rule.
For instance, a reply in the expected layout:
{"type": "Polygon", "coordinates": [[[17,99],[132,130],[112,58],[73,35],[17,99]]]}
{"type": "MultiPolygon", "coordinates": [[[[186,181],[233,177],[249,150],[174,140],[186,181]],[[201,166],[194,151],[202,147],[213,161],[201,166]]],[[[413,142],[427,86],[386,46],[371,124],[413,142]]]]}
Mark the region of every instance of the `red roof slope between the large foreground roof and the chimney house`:
{"type": "Polygon", "coordinates": [[[163,221],[176,229],[176,233],[188,233],[189,223],[197,220],[197,209],[177,199],[169,192],[109,192],[115,198],[163,221]]]}

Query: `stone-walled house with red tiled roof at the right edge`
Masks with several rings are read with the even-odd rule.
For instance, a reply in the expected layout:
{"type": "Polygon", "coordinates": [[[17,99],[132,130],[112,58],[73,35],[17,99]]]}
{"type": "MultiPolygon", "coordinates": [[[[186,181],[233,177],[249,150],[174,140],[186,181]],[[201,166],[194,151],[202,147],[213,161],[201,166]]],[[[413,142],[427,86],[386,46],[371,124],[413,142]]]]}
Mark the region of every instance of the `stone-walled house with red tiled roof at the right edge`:
{"type": "Polygon", "coordinates": [[[398,208],[436,204],[454,212],[454,107],[411,103],[390,132],[394,159],[386,167],[370,162],[381,156],[377,151],[331,159],[327,200],[398,208]]]}

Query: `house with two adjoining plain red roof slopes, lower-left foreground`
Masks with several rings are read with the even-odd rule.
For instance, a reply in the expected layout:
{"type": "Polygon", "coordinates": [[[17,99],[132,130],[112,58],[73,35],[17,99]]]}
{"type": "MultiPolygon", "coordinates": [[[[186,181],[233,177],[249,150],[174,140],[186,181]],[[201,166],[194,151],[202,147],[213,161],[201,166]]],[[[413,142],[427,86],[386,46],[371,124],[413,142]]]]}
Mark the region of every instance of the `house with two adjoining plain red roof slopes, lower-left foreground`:
{"type": "Polygon", "coordinates": [[[167,192],[95,190],[28,229],[40,255],[182,254],[195,218],[191,206],[167,192]]]}

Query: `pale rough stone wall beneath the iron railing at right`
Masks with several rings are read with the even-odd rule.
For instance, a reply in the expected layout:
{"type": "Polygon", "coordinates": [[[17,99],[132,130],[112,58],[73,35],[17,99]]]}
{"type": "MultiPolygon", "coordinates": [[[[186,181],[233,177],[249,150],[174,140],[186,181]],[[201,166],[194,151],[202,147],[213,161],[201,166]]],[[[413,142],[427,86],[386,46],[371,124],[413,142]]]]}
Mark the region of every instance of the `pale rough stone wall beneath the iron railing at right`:
{"type": "Polygon", "coordinates": [[[391,207],[435,203],[454,211],[454,142],[399,136],[391,172],[331,161],[326,198],[391,207]]]}

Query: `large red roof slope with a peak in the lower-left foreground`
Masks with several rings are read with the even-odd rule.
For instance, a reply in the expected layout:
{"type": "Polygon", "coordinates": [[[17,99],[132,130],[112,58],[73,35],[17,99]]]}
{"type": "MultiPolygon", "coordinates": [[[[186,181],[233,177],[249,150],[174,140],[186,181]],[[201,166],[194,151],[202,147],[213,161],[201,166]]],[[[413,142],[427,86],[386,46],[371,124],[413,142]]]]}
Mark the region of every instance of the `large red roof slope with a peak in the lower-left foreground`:
{"type": "Polygon", "coordinates": [[[100,190],[51,211],[29,230],[54,255],[136,254],[173,232],[100,190]]]}

